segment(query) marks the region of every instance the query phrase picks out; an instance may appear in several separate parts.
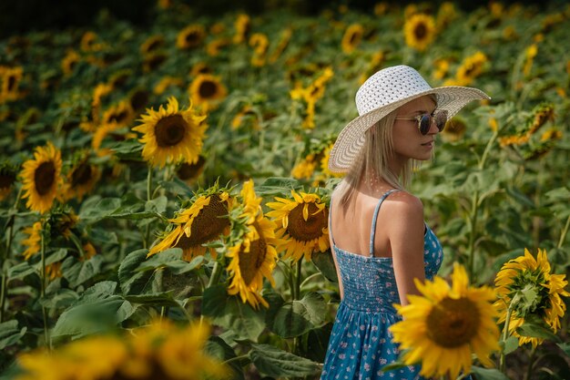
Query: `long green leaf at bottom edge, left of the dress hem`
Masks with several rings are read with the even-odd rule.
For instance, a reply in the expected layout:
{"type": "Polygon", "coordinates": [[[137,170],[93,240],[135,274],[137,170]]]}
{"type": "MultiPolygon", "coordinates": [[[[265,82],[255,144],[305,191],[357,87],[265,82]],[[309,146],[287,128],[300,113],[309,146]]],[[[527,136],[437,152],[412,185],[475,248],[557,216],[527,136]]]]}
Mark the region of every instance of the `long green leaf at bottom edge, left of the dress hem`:
{"type": "Polygon", "coordinates": [[[321,365],[270,344],[251,344],[249,357],[261,373],[271,377],[303,377],[321,373],[321,365]]]}

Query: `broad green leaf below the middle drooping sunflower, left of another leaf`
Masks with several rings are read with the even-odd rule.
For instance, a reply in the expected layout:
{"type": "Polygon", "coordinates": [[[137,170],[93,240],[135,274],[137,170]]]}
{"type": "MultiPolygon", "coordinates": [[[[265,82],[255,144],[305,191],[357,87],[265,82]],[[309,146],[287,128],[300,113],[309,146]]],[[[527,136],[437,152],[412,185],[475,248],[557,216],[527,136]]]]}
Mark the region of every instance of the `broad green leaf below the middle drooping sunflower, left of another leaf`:
{"type": "Polygon", "coordinates": [[[221,284],[210,286],[204,291],[202,313],[213,324],[232,330],[236,339],[257,342],[258,336],[265,329],[264,310],[255,310],[249,303],[242,303],[239,297],[230,296],[221,284]]]}

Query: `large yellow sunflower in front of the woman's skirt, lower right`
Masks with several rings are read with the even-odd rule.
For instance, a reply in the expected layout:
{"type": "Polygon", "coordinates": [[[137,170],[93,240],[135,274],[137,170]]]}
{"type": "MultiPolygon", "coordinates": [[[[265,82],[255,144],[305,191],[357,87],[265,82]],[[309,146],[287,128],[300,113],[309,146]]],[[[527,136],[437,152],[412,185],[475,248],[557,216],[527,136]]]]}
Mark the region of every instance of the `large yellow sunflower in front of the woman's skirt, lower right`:
{"type": "Polygon", "coordinates": [[[491,366],[489,355],[499,349],[499,329],[491,288],[469,286],[462,265],[453,265],[450,286],[441,277],[424,283],[415,280],[423,294],[408,295],[409,304],[395,304],[403,320],[390,327],[394,342],[400,343],[403,361],[413,365],[422,361],[420,375],[426,377],[471,371],[472,353],[483,365],[491,366]]]}

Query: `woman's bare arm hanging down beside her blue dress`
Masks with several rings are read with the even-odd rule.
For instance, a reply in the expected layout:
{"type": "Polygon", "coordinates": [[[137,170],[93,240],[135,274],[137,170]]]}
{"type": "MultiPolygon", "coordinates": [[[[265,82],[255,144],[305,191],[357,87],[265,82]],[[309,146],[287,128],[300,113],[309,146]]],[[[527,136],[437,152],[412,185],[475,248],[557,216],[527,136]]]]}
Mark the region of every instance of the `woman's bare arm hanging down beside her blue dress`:
{"type": "Polygon", "coordinates": [[[407,294],[418,294],[414,279],[425,280],[423,268],[423,205],[412,194],[402,192],[390,202],[388,239],[392,247],[392,263],[400,303],[408,304],[407,294]]]}

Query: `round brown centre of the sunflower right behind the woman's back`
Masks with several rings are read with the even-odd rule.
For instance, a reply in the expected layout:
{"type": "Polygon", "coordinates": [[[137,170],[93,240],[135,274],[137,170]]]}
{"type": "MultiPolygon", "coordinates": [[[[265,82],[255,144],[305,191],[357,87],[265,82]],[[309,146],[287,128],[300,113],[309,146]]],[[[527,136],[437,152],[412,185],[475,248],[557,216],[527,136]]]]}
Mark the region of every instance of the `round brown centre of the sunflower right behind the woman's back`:
{"type": "Polygon", "coordinates": [[[312,241],[322,236],[322,230],[327,227],[327,213],[319,211],[314,203],[300,203],[289,214],[287,232],[297,241],[312,241]],[[309,218],[303,218],[303,208],[308,205],[309,218]],[[316,212],[316,213],[315,213],[316,212]]]}

